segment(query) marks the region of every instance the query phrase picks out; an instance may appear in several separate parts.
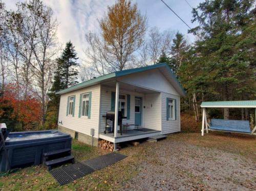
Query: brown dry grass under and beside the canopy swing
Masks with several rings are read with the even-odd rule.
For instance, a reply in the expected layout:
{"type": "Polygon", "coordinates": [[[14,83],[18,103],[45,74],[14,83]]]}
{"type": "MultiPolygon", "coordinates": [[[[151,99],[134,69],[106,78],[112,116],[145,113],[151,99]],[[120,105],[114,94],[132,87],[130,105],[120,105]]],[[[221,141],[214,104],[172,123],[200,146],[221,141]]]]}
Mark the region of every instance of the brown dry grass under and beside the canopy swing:
{"type": "Polygon", "coordinates": [[[209,131],[208,134],[205,133],[204,136],[201,136],[201,127],[201,120],[196,123],[193,114],[181,113],[181,131],[184,134],[174,134],[172,138],[201,147],[235,152],[256,160],[255,135],[209,131]]]}

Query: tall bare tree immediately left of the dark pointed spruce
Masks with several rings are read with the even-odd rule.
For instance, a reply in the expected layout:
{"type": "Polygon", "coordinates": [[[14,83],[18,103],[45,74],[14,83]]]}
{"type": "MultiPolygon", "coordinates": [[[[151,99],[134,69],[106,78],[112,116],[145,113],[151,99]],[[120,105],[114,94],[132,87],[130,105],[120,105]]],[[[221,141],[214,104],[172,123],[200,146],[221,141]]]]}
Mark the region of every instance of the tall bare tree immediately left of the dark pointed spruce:
{"type": "MultiPolygon", "coordinates": [[[[57,22],[53,19],[51,8],[45,6],[40,1],[31,2],[31,7],[37,13],[37,32],[33,40],[33,90],[41,101],[42,124],[45,122],[47,103],[49,101],[48,92],[51,88],[51,81],[55,68],[54,57],[58,51],[57,47],[57,22]]],[[[31,11],[33,11],[31,10],[31,11]]]]}

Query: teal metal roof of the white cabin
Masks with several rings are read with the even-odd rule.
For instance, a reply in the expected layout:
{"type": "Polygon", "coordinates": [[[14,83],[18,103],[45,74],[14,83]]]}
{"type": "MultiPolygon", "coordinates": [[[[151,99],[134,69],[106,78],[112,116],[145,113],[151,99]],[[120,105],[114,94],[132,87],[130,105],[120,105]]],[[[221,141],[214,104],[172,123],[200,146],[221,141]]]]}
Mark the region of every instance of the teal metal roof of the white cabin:
{"type": "Polygon", "coordinates": [[[115,71],[114,73],[107,74],[107,75],[104,75],[104,76],[100,76],[98,78],[94,78],[92,80],[88,80],[86,82],[82,82],[82,83],[76,84],[76,85],[71,86],[71,87],[69,87],[67,89],[60,90],[60,91],[56,92],[56,94],[67,93],[67,92],[74,91],[74,90],[77,90],[77,89],[81,89],[81,88],[84,88],[84,87],[88,87],[88,86],[92,86],[92,85],[95,85],[95,84],[99,84],[103,80],[107,80],[107,79],[111,79],[111,78],[115,78],[115,77],[121,77],[121,76],[129,75],[129,74],[133,74],[133,73],[138,73],[140,71],[145,71],[145,70],[155,69],[155,68],[160,68],[160,67],[166,67],[166,69],[168,69],[170,76],[177,83],[177,85],[179,87],[179,90],[182,92],[183,96],[185,96],[185,94],[186,94],[185,90],[183,89],[183,87],[181,86],[180,82],[178,81],[178,79],[174,75],[172,69],[170,69],[168,64],[166,64],[165,62],[164,63],[154,64],[154,65],[150,65],[150,66],[144,66],[144,67],[138,67],[138,68],[133,68],[133,69],[125,69],[125,70],[121,70],[121,71],[115,71]]]}

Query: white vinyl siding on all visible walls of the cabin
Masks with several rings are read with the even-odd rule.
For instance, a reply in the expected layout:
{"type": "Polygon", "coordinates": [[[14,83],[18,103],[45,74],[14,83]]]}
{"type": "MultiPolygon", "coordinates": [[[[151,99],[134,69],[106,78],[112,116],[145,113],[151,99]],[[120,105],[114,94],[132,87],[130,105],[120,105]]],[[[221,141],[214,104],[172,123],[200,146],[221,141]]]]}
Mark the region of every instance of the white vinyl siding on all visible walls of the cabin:
{"type": "MultiPolygon", "coordinates": [[[[180,96],[176,95],[178,94],[177,91],[162,75],[161,71],[151,70],[147,73],[143,72],[143,74],[145,74],[145,76],[143,76],[142,73],[137,73],[127,75],[125,78],[123,77],[120,79],[120,81],[123,81],[126,84],[135,85],[132,90],[124,90],[126,88],[125,84],[120,83],[120,95],[125,96],[125,99],[120,100],[119,98],[119,101],[123,101],[124,103],[123,107],[121,107],[122,104],[120,103],[119,109],[123,109],[124,116],[127,116],[127,94],[130,95],[130,119],[123,119],[122,123],[135,123],[135,97],[139,97],[142,98],[140,107],[142,127],[162,131],[162,134],[179,132],[180,96]],[[153,82],[151,79],[154,79],[155,81],[153,82]],[[144,93],[139,93],[136,91],[136,86],[148,88],[151,92],[147,93],[147,91],[145,91],[144,93]],[[166,120],[166,98],[176,99],[176,120],[166,120]]],[[[111,84],[111,86],[113,85],[111,84]]],[[[58,125],[86,135],[90,135],[91,128],[94,128],[95,138],[98,138],[99,132],[105,130],[105,117],[102,117],[102,115],[105,115],[107,111],[111,110],[112,92],[115,92],[115,87],[111,86],[98,84],[61,94],[58,122],[62,121],[62,124],[58,125]],[[88,115],[87,100],[83,99],[82,101],[84,101],[84,103],[80,102],[80,94],[87,92],[92,93],[91,118],[86,117],[86,115],[88,115]],[[68,97],[71,96],[75,96],[76,98],[74,102],[74,117],[69,115],[72,111],[67,110],[68,97]],[[80,103],[81,106],[79,107],[80,103]],[[80,117],[78,114],[79,108],[80,117]]],[[[129,129],[134,129],[134,126],[130,126],[129,129]]]]}

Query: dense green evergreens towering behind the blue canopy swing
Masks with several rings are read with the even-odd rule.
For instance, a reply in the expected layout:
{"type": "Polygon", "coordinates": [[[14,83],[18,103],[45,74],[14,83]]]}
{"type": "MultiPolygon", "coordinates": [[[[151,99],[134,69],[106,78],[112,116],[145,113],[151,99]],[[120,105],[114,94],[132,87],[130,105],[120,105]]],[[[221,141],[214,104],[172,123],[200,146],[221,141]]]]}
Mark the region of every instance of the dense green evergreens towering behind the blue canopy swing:
{"type": "MultiPolygon", "coordinates": [[[[185,55],[180,80],[189,100],[255,98],[255,8],[253,1],[205,1],[193,10],[200,36],[185,55]],[[253,74],[254,72],[254,74],[253,74]]],[[[228,108],[224,118],[229,117],[228,108]]]]}

